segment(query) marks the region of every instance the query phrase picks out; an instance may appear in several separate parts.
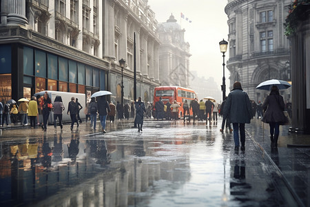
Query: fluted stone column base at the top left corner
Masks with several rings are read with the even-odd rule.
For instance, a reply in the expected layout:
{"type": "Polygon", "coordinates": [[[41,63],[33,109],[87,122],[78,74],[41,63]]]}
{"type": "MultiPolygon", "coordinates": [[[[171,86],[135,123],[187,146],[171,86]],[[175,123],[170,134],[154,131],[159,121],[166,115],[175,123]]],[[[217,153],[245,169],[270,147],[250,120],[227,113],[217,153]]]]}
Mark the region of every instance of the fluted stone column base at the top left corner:
{"type": "Polygon", "coordinates": [[[8,1],[8,26],[25,26],[28,20],[25,17],[25,0],[7,0],[8,1]]]}

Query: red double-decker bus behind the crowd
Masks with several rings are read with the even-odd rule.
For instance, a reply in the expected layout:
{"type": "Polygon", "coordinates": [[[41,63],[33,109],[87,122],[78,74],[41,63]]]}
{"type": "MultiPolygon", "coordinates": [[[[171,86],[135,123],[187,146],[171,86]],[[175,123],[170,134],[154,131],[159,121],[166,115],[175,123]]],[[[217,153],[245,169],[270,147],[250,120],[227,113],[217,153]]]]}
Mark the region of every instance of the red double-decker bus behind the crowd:
{"type": "MultiPolygon", "coordinates": [[[[183,117],[183,102],[187,99],[187,102],[190,104],[191,101],[195,98],[198,99],[196,92],[189,88],[183,88],[180,86],[158,86],[154,89],[154,99],[153,99],[153,106],[155,103],[159,101],[159,98],[162,97],[163,103],[166,104],[167,101],[173,103],[174,100],[180,105],[178,109],[179,117],[183,117]]],[[[192,109],[189,110],[189,114],[192,116],[193,112],[192,109]]]]}

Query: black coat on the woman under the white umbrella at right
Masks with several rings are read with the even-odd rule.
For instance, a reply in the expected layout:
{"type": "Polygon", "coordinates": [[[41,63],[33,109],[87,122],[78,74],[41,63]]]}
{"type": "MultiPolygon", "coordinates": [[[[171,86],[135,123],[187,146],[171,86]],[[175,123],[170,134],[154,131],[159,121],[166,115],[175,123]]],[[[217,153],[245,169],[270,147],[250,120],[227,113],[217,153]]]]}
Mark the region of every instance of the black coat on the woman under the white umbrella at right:
{"type": "Polygon", "coordinates": [[[264,104],[262,104],[262,108],[266,111],[264,117],[262,117],[262,121],[265,123],[285,123],[286,117],[283,113],[283,110],[285,110],[285,103],[281,95],[267,96],[264,104]]]}

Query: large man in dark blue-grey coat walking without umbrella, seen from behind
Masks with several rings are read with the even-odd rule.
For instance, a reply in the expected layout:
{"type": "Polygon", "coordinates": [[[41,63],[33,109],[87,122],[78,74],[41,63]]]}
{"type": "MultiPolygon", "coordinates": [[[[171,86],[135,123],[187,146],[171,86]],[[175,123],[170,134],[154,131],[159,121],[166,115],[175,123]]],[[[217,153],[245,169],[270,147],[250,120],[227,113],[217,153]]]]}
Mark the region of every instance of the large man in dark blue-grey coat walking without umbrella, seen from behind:
{"type": "Polygon", "coordinates": [[[228,115],[234,127],[235,152],[239,152],[239,129],[241,151],[245,152],[245,124],[250,124],[252,117],[251,101],[247,92],[243,91],[240,82],[234,83],[224,107],[224,115],[228,115]]]}

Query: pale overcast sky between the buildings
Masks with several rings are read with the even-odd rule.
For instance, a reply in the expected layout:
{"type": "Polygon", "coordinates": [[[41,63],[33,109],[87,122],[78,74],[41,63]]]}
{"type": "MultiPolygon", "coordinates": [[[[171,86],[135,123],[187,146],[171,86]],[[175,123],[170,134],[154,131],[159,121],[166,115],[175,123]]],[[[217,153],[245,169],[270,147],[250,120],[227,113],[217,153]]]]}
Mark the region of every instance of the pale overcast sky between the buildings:
{"type": "MultiPolygon", "coordinates": [[[[196,70],[199,77],[214,77],[218,88],[223,81],[223,54],[219,42],[227,41],[228,25],[225,6],[227,0],[149,0],[148,5],[156,14],[158,23],[165,22],[171,14],[180,23],[182,12],[192,23],[182,19],[185,41],[190,45],[189,70],[196,70]]],[[[225,53],[225,62],[228,52],[225,53]]],[[[229,70],[225,70],[226,90],[229,87],[229,70]]]]}

